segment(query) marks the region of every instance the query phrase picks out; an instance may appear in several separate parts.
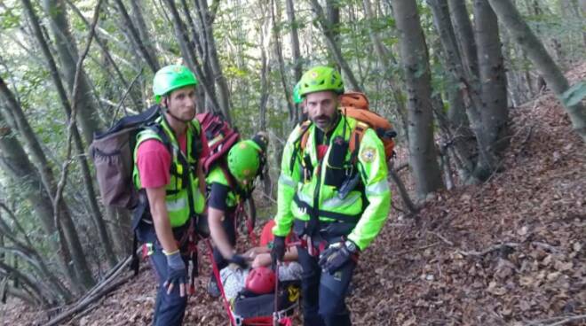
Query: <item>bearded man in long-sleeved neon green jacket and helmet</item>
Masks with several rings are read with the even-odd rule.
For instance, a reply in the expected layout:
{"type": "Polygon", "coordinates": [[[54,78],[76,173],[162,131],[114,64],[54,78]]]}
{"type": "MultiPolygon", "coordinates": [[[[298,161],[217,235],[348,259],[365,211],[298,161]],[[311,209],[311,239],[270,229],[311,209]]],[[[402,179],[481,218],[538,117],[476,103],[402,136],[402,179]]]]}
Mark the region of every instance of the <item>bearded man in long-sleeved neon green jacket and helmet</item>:
{"type": "Polygon", "coordinates": [[[283,151],[271,254],[282,260],[292,228],[302,244],[305,325],[350,325],[344,301],[359,253],[391,206],[384,147],[368,128],[350,151],[358,122],[338,110],[344,83],[335,69],[313,67],[299,84],[311,122],[293,130],[283,151]]]}

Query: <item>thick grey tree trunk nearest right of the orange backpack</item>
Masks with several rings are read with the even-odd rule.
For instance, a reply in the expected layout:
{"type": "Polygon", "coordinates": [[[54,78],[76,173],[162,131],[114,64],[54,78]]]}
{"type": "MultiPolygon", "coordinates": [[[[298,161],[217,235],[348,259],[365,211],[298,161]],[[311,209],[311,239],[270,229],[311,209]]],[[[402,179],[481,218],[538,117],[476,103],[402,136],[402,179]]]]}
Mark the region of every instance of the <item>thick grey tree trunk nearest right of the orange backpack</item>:
{"type": "Polygon", "coordinates": [[[408,89],[409,165],[419,198],[442,188],[438,154],[433,141],[432,86],[424,31],[416,3],[393,0],[400,32],[400,53],[408,89]]]}

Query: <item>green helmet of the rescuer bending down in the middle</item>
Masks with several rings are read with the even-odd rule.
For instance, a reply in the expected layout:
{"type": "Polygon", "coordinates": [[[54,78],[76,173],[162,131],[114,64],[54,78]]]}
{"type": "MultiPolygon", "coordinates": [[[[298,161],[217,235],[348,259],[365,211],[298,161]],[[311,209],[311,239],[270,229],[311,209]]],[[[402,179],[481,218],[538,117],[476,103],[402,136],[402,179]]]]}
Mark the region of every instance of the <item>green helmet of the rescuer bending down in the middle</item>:
{"type": "Polygon", "coordinates": [[[254,179],[260,169],[262,150],[252,140],[244,140],[228,151],[228,169],[238,181],[254,179]]]}

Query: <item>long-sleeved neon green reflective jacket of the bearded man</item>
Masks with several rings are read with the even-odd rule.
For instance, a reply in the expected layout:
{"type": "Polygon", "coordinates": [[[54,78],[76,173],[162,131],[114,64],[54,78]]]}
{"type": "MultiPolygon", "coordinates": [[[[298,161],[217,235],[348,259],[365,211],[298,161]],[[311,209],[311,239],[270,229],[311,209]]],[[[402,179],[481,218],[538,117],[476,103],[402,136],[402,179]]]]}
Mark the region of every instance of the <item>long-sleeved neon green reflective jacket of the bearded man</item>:
{"type": "MultiPolygon", "coordinates": [[[[384,157],[384,145],[370,128],[366,130],[360,141],[358,157],[354,167],[360,174],[361,187],[350,191],[344,198],[338,198],[338,188],[324,184],[324,175],[328,168],[328,159],[336,136],[343,136],[349,142],[352,129],[357,120],[342,116],[329,138],[329,148],[323,159],[318,161],[317,144],[315,144],[316,127],[312,124],[305,132],[309,133],[305,152],[300,149],[300,138],[303,128],[297,126],[289,136],[283,150],[281,175],[278,183],[278,204],[273,234],[286,237],[289,234],[293,219],[310,220],[313,204],[318,203],[320,221],[336,221],[335,216],[344,216],[344,221],[356,223],[348,236],[360,250],[366,249],[383,228],[390,207],[391,190],[387,182],[387,165],[384,157]],[[344,124],[345,132],[344,132],[344,124]],[[345,134],[345,135],[344,135],[345,134]],[[296,157],[294,157],[294,155],[296,157]],[[304,180],[305,156],[309,156],[312,176],[304,180]],[[319,183],[318,183],[319,182],[319,183]],[[319,189],[318,189],[319,188],[319,189]],[[318,194],[318,198],[314,196],[318,194]],[[366,200],[365,200],[366,199],[366,200]],[[332,218],[334,217],[334,218],[332,218]]],[[[347,151],[344,162],[350,164],[352,152],[347,151]]]]}

